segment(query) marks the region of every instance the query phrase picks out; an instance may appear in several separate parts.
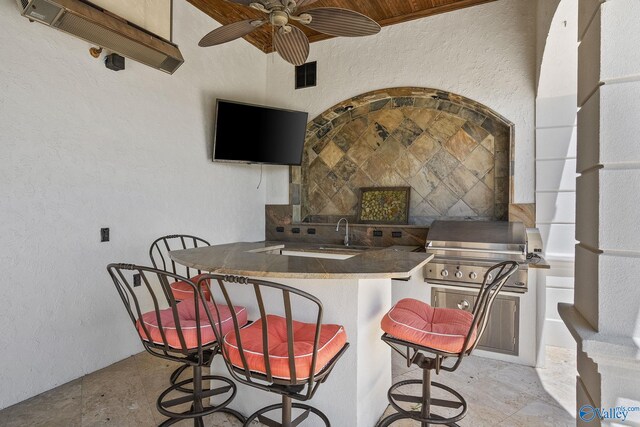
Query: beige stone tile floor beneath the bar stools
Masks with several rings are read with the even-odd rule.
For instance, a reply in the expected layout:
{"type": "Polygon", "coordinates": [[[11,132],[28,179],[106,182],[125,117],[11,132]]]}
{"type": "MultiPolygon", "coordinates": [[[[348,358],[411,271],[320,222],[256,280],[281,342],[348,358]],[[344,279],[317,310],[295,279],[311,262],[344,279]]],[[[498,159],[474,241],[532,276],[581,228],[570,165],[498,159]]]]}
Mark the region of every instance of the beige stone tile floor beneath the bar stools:
{"type": "MultiPolygon", "coordinates": [[[[575,351],[547,347],[547,366],[534,369],[471,356],[456,372],[434,380],[467,399],[469,412],[461,426],[574,426],[575,358],[575,351]]],[[[172,362],[141,353],[0,411],[0,426],[155,426],[164,420],[155,400],[175,368],[172,362]]],[[[393,371],[394,382],[421,378],[421,371],[407,368],[400,357],[394,358],[393,371]]],[[[401,391],[413,393],[410,387],[401,391]]],[[[215,414],[206,418],[206,425],[241,424],[215,414]]],[[[400,421],[394,427],[418,425],[400,421]]]]}

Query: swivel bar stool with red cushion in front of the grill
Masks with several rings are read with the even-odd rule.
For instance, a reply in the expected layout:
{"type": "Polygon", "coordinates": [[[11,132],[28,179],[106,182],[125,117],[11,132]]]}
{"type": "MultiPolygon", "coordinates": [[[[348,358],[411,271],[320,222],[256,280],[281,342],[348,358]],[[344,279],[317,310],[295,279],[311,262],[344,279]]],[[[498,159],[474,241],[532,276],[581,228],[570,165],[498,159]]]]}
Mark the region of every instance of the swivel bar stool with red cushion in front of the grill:
{"type": "Polygon", "coordinates": [[[476,348],[498,293],[509,277],[518,270],[518,263],[506,261],[496,264],[486,272],[472,313],[449,308],[434,308],[414,299],[399,301],[382,319],[382,340],[412,364],[422,369],[422,380],[400,381],[387,393],[389,403],[397,411],[381,419],[377,427],[387,427],[402,419],[418,421],[422,426],[431,424],[457,426],[467,413],[467,402],[460,393],[446,385],[432,382],[431,371],[453,372],[464,356],[476,348]],[[493,278],[491,280],[490,278],[493,278]],[[445,363],[454,360],[449,366],[445,363]],[[421,396],[410,396],[396,391],[404,386],[420,384],[421,396]],[[437,399],[431,396],[431,387],[438,388],[453,399],[437,399]],[[398,402],[420,404],[420,410],[405,410],[398,402]],[[460,411],[450,417],[431,412],[432,407],[460,411]]]}

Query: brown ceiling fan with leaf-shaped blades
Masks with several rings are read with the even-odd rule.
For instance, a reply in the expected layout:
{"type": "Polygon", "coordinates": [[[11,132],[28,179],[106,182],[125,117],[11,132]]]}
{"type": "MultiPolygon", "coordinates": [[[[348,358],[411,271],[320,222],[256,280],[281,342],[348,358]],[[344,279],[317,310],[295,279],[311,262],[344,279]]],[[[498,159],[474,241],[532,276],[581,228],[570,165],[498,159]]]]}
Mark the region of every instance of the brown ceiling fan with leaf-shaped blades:
{"type": "Polygon", "coordinates": [[[273,46],[293,65],[302,65],[309,56],[309,39],[291,22],[299,22],[315,31],[337,37],[360,37],[377,34],[380,25],[373,19],[349,9],[320,7],[298,13],[298,9],[316,0],[228,0],[267,14],[265,19],[247,19],[216,28],[204,36],[201,47],[215,46],[244,37],[257,28],[273,26],[273,46]]]}

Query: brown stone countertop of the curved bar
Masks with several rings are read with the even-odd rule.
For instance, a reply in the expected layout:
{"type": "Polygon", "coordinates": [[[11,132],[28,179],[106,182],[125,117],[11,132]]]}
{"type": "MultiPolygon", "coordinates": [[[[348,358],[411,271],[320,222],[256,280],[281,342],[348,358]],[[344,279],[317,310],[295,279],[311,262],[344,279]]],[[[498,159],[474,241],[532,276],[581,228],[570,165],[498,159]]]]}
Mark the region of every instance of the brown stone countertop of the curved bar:
{"type": "Polygon", "coordinates": [[[427,264],[433,255],[412,252],[418,247],[340,247],[292,242],[241,242],[172,251],[175,262],[219,274],[251,277],[301,279],[387,279],[408,278],[427,264]],[[281,255],[280,251],[351,255],[327,259],[281,255]]]}

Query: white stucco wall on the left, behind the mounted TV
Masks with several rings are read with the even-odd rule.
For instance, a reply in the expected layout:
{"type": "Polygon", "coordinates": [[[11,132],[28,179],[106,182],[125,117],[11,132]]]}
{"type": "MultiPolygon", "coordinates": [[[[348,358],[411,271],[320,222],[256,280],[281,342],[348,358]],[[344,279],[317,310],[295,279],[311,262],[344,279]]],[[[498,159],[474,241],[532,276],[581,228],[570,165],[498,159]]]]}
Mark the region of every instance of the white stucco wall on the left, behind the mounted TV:
{"type": "Polygon", "coordinates": [[[267,58],[243,40],[198,48],[217,25],[177,1],[186,63],[115,73],[0,1],[0,408],[142,350],[107,263],[148,264],[169,233],[264,238],[259,167],[210,151],[215,98],[264,102],[267,58]]]}

